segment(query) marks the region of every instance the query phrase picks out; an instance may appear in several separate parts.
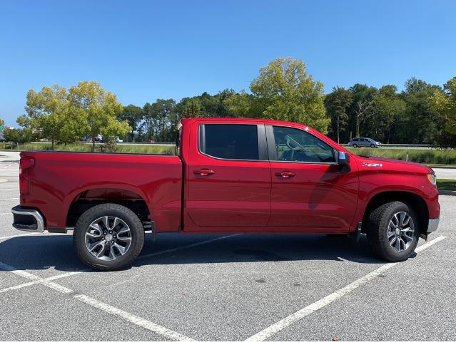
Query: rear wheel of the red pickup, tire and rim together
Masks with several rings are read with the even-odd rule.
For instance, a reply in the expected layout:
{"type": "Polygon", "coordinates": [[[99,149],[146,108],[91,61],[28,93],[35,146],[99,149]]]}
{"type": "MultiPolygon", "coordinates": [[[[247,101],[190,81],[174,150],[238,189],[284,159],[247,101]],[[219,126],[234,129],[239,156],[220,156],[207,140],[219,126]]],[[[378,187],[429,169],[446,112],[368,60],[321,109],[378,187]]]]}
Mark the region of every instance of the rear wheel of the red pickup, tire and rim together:
{"type": "Polygon", "coordinates": [[[106,203],[91,207],[74,227],[73,245],[93,269],[116,271],[130,266],[143,249],[144,229],[130,209],[106,203]]]}

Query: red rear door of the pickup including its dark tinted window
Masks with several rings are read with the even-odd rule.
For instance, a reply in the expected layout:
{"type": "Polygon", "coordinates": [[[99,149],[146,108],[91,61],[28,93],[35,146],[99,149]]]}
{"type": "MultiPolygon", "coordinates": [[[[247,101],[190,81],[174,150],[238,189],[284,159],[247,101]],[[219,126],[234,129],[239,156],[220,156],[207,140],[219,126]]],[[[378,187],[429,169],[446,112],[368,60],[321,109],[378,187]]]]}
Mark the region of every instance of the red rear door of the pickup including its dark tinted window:
{"type": "Polygon", "coordinates": [[[265,126],[197,122],[191,130],[198,148],[191,148],[186,170],[185,229],[267,226],[271,178],[265,126]]]}

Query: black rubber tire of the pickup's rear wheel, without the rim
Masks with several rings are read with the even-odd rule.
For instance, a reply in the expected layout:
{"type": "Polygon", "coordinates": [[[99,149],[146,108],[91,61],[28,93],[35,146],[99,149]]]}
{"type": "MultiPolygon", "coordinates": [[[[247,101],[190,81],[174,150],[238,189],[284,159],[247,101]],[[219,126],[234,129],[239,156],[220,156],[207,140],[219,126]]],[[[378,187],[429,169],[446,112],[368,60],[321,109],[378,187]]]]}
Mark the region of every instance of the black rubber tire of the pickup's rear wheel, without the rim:
{"type": "MultiPolygon", "coordinates": [[[[115,237],[115,236],[114,236],[115,237]]],[[[120,237],[120,234],[119,234],[120,237]]],[[[98,238],[100,239],[100,238],[98,238]]],[[[107,238],[106,238],[107,239],[107,238]]],[[[103,237],[104,240],[104,237],[103,237]]],[[[79,259],[87,266],[100,271],[117,271],[133,264],[143,249],[144,229],[138,216],[130,209],[119,204],[106,203],[91,207],[79,217],[74,227],[73,245],[79,259]],[[97,259],[86,247],[86,232],[89,225],[99,217],[118,217],[128,225],[131,244],[125,254],[113,260],[97,259]]],[[[101,247],[104,248],[104,247],[101,247]]]]}

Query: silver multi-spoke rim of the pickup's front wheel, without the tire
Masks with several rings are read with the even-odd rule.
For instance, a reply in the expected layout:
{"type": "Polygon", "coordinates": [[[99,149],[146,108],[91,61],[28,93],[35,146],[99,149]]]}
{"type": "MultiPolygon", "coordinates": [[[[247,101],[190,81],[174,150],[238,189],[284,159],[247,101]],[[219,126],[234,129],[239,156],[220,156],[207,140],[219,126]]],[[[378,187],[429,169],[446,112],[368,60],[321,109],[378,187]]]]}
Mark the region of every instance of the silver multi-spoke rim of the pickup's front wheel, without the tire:
{"type": "Polygon", "coordinates": [[[407,212],[397,212],[388,224],[388,242],[395,252],[405,252],[412,246],[415,237],[415,224],[407,212]]]}

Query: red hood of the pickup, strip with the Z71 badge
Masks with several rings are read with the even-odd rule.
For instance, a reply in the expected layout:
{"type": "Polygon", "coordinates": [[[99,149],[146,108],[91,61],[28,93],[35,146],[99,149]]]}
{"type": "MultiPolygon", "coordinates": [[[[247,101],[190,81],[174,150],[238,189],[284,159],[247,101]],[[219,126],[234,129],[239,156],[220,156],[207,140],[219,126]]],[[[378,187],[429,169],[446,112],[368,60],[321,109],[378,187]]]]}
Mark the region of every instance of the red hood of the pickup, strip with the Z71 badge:
{"type": "Polygon", "coordinates": [[[375,169],[379,168],[383,171],[400,171],[400,172],[413,172],[427,175],[434,172],[430,167],[422,165],[418,162],[406,162],[405,160],[387,159],[380,157],[363,157],[355,155],[361,169],[375,169]]]}

